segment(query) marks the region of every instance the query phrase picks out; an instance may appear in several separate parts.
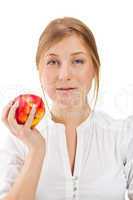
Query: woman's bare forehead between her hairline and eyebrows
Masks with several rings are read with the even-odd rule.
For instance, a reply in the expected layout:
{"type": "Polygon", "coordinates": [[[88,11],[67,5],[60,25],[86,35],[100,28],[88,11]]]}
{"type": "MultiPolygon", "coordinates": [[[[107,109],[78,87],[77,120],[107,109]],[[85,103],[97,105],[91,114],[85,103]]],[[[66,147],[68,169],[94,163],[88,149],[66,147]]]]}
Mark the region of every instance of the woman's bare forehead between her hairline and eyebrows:
{"type": "Polygon", "coordinates": [[[71,55],[84,55],[88,54],[88,49],[85,46],[83,39],[76,35],[68,36],[63,38],[61,41],[52,45],[46,52],[45,56],[60,55],[60,54],[71,54],[71,55]]]}

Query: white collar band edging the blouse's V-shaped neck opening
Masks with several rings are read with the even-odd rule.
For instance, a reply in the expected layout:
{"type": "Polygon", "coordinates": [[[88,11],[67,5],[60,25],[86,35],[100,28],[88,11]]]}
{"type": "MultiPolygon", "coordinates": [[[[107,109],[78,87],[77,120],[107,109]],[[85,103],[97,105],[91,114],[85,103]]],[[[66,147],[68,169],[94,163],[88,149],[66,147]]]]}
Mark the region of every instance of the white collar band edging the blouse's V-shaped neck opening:
{"type": "Polygon", "coordinates": [[[67,139],[65,135],[65,125],[62,123],[53,121],[52,115],[50,113],[50,123],[52,124],[52,128],[54,128],[54,126],[57,127],[57,133],[59,133],[59,137],[61,138],[61,154],[62,154],[62,158],[64,162],[65,174],[66,174],[66,177],[71,177],[71,179],[80,175],[81,159],[82,159],[82,145],[83,145],[83,138],[82,138],[82,134],[80,133],[83,133],[85,127],[89,125],[93,114],[94,114],[94,110],[91,110],[89,116],[83,122],[81,122],[78,127],[76,127],[77,144],[76,144],[76,152],[75,152],[75,159],[74,159],[74,167],[73,167],[73,172],[72,172],[71,162],[69,159],[69,151],[67,147],[67,139]]]}

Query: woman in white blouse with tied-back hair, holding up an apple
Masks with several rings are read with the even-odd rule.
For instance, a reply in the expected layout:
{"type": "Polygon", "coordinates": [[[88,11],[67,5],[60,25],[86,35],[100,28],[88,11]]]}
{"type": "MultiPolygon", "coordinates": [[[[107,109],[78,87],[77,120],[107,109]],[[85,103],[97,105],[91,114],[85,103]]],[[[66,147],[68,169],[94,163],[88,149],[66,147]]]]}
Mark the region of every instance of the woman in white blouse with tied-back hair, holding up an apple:
{"type": "Polygon", "coordinates": [[[1,152],[1,163],[9,162],[3,164],[0,197],[123,200],[128,189],[133,199],[132,116],[115,120],[87,101],[93,80],[96,97],[99,89],[91,30],[72,17],[51,21],[40,36],[36,64],[52,100],[50,118],[40,123],[42,131],[31,130],[34,108],[23,127],[14,119],[17,104],[4,108],[2,120],[15,137],[1,152]]]}

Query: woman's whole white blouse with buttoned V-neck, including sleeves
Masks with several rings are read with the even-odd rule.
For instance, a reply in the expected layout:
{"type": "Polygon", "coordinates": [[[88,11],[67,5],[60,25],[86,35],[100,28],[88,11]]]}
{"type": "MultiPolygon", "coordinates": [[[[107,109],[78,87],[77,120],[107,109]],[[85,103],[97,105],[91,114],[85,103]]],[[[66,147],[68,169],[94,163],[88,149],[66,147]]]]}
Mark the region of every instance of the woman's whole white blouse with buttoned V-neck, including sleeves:
{"type": "MultiPolygon", "coordinates": [[[[65,126],[44,117],[37,127],[46,139],[46,155],[36,200],[124,200],[126,190],[133,196],[133,115],[116,120],[92,110],[76,129],[73,175],[65,126]]],[[[9,134],[0,150],[0,198],[12,187],[27,153],[26,145],[9,134]]]]}

